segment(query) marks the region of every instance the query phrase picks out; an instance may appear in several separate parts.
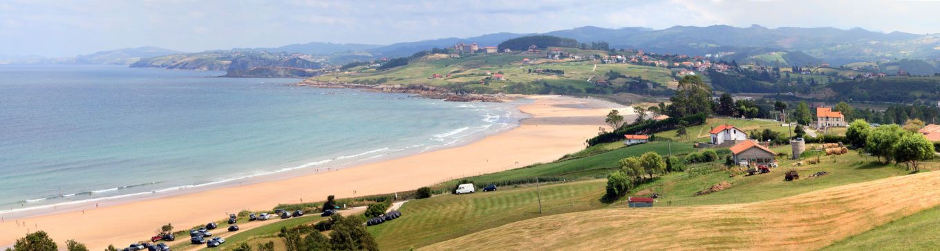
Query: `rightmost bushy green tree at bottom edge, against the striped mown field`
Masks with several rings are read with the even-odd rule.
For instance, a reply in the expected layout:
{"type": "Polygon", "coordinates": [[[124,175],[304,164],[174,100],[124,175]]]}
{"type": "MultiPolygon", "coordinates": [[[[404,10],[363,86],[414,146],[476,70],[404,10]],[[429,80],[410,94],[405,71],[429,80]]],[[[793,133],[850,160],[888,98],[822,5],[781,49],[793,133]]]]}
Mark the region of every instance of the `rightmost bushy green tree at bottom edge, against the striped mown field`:
{"type": "Polygon", "coordinates": [[[337,217],[330,232],[333,250],[379,250],[379,244],[368,234],[360,217],[337,217]]]}

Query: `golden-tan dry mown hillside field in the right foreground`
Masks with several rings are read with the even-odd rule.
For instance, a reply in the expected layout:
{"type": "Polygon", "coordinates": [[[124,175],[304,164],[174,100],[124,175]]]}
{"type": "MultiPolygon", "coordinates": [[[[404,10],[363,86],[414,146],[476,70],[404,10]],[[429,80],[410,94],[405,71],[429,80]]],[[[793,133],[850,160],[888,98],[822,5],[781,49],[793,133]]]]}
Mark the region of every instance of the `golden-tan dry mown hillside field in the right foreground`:
{"type": "Polygon", "coordinates": [[[940,172],[927,172],[755,203],[558,214],[423,249],[807,250],[937,205],[940,172]]]}

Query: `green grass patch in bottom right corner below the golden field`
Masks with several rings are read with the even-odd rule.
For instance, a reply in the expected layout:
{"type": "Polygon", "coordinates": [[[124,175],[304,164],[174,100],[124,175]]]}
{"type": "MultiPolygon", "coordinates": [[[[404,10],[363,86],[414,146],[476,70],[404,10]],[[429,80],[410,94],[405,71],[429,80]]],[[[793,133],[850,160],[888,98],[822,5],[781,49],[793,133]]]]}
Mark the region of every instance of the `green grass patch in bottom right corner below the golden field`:
{"type": "Polygon", "coordinates": [[[940,207],[911,214],[891,223],[846,238],[823,250],[937,250],[940,207]]]}

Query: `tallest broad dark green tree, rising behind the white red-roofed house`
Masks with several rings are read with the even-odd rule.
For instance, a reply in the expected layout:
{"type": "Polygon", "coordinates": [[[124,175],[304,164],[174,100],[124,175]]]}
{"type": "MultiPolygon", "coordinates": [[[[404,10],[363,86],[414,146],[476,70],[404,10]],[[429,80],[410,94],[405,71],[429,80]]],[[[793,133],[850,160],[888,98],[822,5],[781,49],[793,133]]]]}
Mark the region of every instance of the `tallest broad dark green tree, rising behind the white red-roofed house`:
{"type": "Polygon", "coordinates": [[[713,110],[712,88],[705,84],[698,76],[685,76],[679,80],[676,95],[669,98],[672,101],[669,116],[684,117],[697,113],[711,115],[713,110]]]}

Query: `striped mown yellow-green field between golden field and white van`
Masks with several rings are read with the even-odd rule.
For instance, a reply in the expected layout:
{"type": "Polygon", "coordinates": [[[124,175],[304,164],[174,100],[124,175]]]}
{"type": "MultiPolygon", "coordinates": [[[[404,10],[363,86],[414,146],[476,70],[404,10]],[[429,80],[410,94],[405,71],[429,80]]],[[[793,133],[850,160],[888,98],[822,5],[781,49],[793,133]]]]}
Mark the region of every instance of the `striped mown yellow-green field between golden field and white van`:
{"type": "Polygon", "coordinates": [[[593,180],[416,199],[401,207],[399,219],[368,229],[382,250],[420,247],[529,218],[601,208],[604,185],[593,180]]]}

